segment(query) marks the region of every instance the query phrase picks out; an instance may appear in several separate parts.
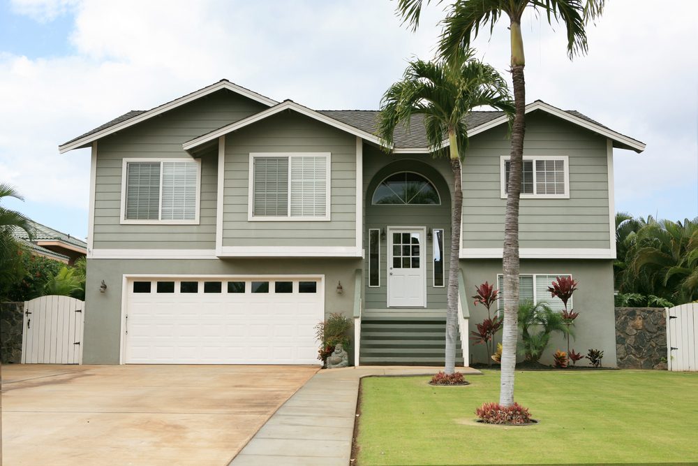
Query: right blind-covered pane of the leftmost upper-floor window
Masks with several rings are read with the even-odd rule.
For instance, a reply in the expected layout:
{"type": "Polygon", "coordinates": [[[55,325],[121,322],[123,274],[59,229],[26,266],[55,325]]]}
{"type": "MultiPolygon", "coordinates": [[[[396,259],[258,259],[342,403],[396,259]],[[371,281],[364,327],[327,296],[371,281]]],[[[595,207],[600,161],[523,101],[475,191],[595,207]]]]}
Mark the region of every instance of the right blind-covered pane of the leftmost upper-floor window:
{"type": "Polygon", "coordinates": [[[163,220],[194,220],[198,164],[163,162],[163,220]]]}

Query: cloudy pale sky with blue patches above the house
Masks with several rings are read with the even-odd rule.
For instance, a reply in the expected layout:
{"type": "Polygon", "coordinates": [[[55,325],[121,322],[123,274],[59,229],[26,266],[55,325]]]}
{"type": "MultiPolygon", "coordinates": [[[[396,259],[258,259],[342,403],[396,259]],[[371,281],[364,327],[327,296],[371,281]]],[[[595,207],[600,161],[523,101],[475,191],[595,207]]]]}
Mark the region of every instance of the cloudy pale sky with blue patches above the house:
{"type": "MultiPolygon", "coordinates": [[[[226,78],[276,101],[376,110],[407,61],[431,59],[443,7],[417,32],[388,0],[0,0],[3,207],[87,235],[89,149],[58,145],[128,110],[147,110],[226,78]]],[[[523,19],[526,101],[579,110],[647,144],[614,150],[616,211],[698,216],[698,1],[610,1],[567,58],[564,27],[523,19]]],[[[477,57],[507,75],[500,22],[477,57]]]]}

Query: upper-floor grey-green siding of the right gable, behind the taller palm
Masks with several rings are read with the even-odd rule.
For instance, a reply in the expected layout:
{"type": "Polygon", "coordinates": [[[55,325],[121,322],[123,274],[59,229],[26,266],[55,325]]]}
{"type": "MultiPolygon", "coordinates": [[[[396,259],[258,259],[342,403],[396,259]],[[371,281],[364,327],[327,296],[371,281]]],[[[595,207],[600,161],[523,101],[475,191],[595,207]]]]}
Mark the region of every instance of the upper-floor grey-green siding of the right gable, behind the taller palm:
{"type": "MultiPolygon", "coordinates": [[[[504,127],[470,139],[463,161],[463,247],[503,246],[506,200],[500,198],[500,156],[509,152],[504,127]]],[[[520,247],[608,249],[606,140],[551,115],[534,112],[526,115],[523,154],[568,156],[570,198],[521,199],[520,247]]]]}

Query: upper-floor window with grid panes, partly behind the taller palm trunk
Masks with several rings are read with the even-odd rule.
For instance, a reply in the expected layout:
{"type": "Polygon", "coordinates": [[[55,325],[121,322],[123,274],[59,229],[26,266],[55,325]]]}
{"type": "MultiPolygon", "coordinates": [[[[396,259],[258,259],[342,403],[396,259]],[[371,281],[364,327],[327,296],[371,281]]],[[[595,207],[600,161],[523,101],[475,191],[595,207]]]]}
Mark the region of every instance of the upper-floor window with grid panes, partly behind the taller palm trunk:
{"type": "MultiPolygon", "coordinates": [[[[500,159],[501,198],[507,197],[511,162],[500,159]]],[[[570,198],[570,168],[567,156],[523,156],[521,198],[570,198]]]]}

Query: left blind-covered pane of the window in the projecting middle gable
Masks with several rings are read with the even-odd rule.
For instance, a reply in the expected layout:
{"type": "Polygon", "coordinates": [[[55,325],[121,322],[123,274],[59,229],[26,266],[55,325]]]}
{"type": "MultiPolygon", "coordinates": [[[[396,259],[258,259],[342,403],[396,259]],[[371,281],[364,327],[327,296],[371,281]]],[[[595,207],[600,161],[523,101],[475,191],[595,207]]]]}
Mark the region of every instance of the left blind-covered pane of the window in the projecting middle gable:
{"type": "Polygon", "coordinates": [[[255,157],[253,161],[253,215],[288,215],[288,157],[255,157]]]}

